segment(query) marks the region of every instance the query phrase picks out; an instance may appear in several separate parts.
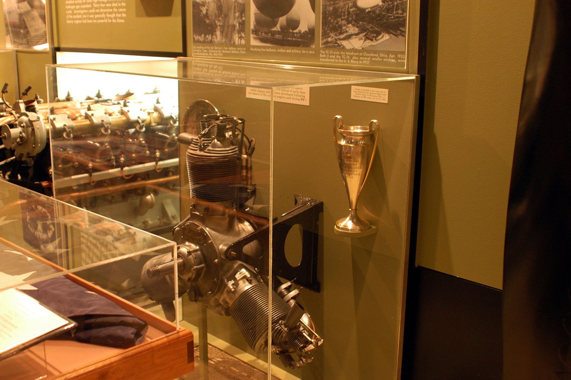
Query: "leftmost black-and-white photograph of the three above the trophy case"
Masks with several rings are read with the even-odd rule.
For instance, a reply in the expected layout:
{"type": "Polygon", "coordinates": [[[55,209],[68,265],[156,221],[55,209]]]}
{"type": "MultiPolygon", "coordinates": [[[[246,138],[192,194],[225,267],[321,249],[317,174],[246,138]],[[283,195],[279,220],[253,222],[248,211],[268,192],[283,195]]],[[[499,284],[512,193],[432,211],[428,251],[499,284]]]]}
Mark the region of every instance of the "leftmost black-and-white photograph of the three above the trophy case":
{"type": "Polygon", "coordinates": [[[244,45],[244,0],[192,0],[192,41],[244,45]]]}

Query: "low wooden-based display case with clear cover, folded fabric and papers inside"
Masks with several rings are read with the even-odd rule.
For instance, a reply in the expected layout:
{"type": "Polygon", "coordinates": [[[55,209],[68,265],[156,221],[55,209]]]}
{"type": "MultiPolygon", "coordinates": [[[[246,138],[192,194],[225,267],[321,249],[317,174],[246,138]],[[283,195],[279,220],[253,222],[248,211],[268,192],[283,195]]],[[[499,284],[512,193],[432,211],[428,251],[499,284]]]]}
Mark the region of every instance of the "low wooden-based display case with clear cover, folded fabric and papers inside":
{"type": "Polygon", "coordinates": [[[173,379],[194,369],[192,332],[166,321],[178,289],[151,299],[141,275],[176,258],[174,242],[7,181],[0,215],[0,378],[173,379]]]}

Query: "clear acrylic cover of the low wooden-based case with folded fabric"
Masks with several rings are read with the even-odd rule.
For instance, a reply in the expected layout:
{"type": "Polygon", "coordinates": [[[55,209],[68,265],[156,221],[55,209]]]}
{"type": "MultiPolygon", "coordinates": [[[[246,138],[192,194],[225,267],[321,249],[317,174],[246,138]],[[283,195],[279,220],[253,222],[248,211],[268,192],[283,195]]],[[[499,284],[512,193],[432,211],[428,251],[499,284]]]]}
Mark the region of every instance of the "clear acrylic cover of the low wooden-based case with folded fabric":
{"type": "MultiPolygon", "coordinates": [[[[10,323],[13,337],[21,336],[19,328],[38,334],[10,346],[15,354],[0,350],[11,354],[0,360],[1,373],[18,379],[68,373],[175,333],[176,261],[170,240],[0,181],[0,293],[25,296],[22,302],[3,297],[0,310],[10,319],[39,302],[47,315],[75,323],[41,331],[39,322],[10,323]]],[[[5,337],[0,334],[0,343],[5,337]]]]}

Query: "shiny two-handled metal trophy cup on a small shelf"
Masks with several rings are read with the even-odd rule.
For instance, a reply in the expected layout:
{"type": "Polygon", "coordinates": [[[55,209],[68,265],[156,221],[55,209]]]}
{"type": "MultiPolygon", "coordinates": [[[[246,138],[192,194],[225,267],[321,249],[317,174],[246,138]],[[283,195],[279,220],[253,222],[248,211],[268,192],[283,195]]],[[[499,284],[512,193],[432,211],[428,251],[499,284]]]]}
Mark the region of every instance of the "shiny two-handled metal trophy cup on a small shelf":
{"type": "Polygon", "coordinates": [[[335,223],[340,235],[365,234],[373,228],[357,214],[357,201],[367,181],[379,138],[379,122],[371,120],[368,126],[343,125],[343,117],[333,118],[333,139],[341,176],[349,197],[349,216],[335,223]]]}

